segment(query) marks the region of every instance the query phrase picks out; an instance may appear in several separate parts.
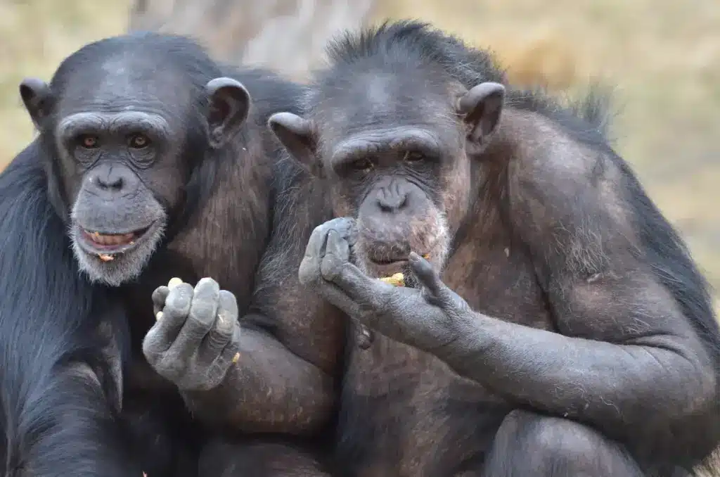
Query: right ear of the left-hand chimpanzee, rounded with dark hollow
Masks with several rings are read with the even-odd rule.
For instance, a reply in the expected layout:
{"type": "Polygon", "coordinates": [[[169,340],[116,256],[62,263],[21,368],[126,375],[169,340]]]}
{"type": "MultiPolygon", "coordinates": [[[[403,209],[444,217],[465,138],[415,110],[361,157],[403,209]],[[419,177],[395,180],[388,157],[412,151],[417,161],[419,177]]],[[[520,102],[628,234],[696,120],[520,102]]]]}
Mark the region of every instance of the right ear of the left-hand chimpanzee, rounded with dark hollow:
{"type": "Polygon", "coordinates": [[[210,101],[207,122],[210,126],[210,146],[221,148],[238,133],[250,112],[248,90],[232,78],[211,79],[205,85],[210,101]]]}

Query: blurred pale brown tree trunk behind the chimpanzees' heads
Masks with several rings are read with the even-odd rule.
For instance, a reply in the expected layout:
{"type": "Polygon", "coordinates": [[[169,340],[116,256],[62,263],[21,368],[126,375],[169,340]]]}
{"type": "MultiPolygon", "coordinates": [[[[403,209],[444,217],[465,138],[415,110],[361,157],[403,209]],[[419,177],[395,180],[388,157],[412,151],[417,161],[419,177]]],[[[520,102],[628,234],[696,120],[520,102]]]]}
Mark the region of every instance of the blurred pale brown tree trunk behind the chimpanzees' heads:
{"type": "Polygon", "coordinates": [[[330,37],[359,27],[380,0],[134,0],[130,30],[192,35],[217,57],[296,79],[330,37]]]}

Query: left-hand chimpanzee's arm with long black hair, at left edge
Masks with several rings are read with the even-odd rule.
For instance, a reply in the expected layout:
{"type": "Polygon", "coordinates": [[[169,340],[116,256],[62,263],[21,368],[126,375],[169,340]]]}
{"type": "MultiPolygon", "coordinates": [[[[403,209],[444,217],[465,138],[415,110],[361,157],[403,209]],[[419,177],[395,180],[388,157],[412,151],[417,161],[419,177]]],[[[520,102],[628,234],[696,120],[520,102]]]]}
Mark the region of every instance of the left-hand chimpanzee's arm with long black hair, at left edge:
{"type": "Polygon", "coordinates": [[[117,342],[97,334],[120,316],[78,272],[43,159],[35,141],[0,174],[2,473],[140,477],[116,419],[117,342]]]}

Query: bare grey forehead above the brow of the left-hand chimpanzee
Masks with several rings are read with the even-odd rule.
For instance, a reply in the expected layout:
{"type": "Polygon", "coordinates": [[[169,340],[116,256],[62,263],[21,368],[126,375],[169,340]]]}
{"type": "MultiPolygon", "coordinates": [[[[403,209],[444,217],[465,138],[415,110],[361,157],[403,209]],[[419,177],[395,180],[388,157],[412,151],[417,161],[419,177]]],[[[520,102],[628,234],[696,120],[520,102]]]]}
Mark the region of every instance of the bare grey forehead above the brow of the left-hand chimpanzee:
{"type": "Polygon", "coordinates": [[[176,71],[153,64],[151,58],[117,55],[86,64],[63,81],[58,111],[145,110],[168,117],[190,107],[192,89],[176,71]]]}

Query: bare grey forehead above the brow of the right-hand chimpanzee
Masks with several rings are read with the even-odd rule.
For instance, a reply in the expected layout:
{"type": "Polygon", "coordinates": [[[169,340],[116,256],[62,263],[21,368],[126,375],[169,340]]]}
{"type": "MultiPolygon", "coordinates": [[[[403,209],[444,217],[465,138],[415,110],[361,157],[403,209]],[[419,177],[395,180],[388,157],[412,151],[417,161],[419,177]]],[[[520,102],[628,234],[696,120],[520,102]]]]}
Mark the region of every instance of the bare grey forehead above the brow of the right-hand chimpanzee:
{"type": "Polygon", "coordinates": [[[456,141],[457,117],[449,85],[416,73],[367,73],[320,88],[316,124],[323,143],[379,130],[421,128],[438,141],[456,141]]]}

